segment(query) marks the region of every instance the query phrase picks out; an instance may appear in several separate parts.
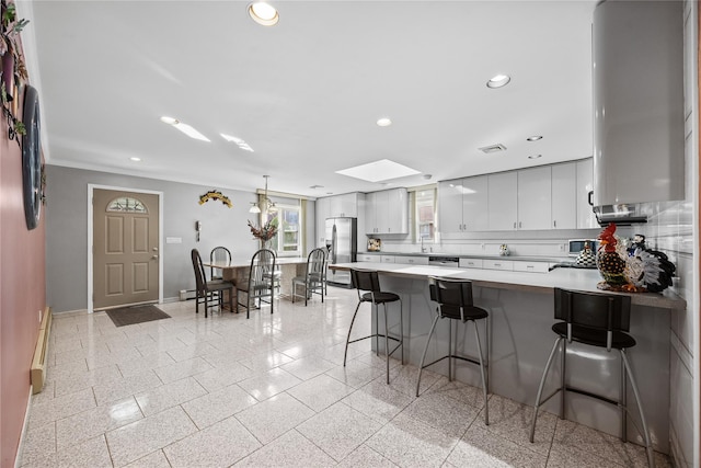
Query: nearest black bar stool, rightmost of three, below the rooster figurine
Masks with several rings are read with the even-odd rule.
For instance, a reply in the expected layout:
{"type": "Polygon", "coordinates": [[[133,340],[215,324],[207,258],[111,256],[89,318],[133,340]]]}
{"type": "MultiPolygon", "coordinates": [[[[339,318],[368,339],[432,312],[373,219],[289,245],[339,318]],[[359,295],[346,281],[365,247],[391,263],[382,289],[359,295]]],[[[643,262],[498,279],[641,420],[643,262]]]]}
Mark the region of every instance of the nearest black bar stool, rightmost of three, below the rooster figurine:
{"type": "Polygon", "coordinates": [[[627,442],[627,422],[628,407],[625,392],[625,377],[631,381],[633,395],[637,403],[641,423],[643,430],[635,425],[639,432],[645,438],[645,449],[647,452],[647,464],[655,466],[653,446],[650,440],[650,431],[643,413],[643,406],[637,391],[637,384],[633,377],[633,372],[625,356],[625,350],[635,345],[635,339],[628,334],[630,330],[630,312],[631,298],[629,296],[583,293],[566,289],[554,289],[555,298],[555,320],[552,331],[555,332],[558,339],[550,352],[545,369],[543,370],[536,404],[533,406],[533,419],[530,426],[530,442],[533,442],[536,433],[536,420],[538,418],[538,409],[550,400],[555,393],[560,392],[560,419],[564,419],[565,413],[565,391],[572,391],[587,397],[596,398],[609,404],[613,404],[621,410],[621,440],[627,442]],[[605,347],[607,352],[612,349],[618,350],[621,356],[621,386],[620,400],[611,400],[610,398],[593,393],[587,390],[574,388],[565,384],[565,365],[567,357],[567,343],[576,341],[577,343],[587,344],[596,347],[605,347]],[[560,349],[561,369],[560,369],[560,387],[555,389],[548,398],[542,399],[543,386],[548,372],[552,365],[555,352],[560,349]]]}

